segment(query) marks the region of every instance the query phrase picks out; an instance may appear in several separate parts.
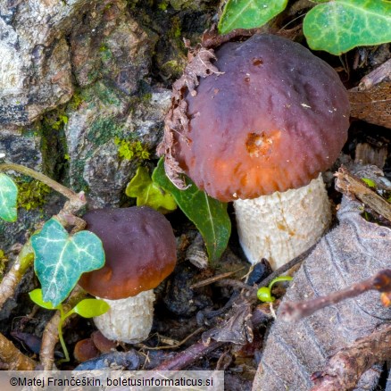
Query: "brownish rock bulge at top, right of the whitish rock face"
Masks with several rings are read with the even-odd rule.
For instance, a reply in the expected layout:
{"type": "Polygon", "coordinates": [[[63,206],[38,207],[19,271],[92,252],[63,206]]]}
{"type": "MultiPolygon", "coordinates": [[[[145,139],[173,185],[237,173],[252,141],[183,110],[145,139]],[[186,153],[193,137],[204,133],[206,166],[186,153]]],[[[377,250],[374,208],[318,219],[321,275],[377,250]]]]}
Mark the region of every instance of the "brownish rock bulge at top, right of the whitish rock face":
{"type": "Polygon", "coordinates": [[[129,15],[126,4],[98,4],[72,31],[71,62],[80,87],[104,78],[130,95],[148,73],[158,37],[129,15]]]}

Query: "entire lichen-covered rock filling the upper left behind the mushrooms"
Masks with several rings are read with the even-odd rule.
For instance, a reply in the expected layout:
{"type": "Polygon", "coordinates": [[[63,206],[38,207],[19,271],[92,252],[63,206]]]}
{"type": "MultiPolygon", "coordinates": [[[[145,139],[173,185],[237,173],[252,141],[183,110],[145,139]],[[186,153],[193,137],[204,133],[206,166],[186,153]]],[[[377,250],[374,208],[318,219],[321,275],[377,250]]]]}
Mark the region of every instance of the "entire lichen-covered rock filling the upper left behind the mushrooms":
{"type": "MultiPolygon", "coordinates": [[[[22,126],[40,135],[7,160],[85,190],[97,205],[119,204],[141,155],[153,156],[170,105],[151,75],[166,79],[173,68],[156,71],[161,62],[180,68],[186,59],[157,43],[184,52],[185,18],[198,36],[207,21],[190,23],[183,3],[177,17],[170,4],[164,12],[136,0],[1,2],[0,133],[22,126]],[[157,52],[170,55],[158,61],[157,52]]],[[[196,3],[198,18],[210,1],[196,3]]]]}

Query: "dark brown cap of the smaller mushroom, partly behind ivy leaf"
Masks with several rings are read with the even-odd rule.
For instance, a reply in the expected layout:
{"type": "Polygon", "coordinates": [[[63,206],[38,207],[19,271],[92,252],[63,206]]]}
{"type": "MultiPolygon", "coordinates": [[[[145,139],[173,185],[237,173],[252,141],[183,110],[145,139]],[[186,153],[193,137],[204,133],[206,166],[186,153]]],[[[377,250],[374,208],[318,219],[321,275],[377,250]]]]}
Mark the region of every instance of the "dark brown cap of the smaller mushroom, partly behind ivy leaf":
{"type": "Polygon", "coordinates": [[[170,222],[146,206],[97,209],[83,219],[104,245],[102,269],[84,273],[79,285],[110,300],[154,289],[171,274],[177,249],[170,222]]]}

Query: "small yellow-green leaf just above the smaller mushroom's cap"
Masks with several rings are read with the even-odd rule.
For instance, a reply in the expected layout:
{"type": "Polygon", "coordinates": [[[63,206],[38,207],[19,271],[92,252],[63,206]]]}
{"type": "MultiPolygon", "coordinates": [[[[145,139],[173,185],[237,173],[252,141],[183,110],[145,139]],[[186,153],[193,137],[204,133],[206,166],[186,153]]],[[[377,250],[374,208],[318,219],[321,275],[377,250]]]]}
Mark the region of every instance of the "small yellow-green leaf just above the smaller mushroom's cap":
{"type": "Polygon", "coordinates": [[[125,193],[129,197],[137,198],[137,206],[150,206],[161,213],[177,209],[174,197],[152,181],[145,167],[137,168],[136,175],[130,180],[125,193]]]}

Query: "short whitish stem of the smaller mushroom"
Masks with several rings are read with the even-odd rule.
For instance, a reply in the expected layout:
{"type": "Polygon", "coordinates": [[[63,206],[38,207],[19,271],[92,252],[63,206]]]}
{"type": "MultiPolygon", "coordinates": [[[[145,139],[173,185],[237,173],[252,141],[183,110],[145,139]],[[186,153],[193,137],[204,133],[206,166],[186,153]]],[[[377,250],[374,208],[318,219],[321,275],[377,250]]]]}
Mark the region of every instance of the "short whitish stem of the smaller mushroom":
{"type": "Polygon", "coordinates": [[[104,337],[127,344],[137,344],[148,337],[154,320],[153,289],[125,299],[103,300],[110,310],[94,321],[104,337]]]}

